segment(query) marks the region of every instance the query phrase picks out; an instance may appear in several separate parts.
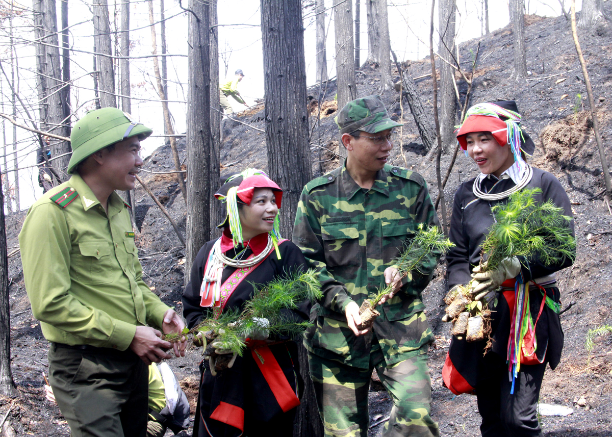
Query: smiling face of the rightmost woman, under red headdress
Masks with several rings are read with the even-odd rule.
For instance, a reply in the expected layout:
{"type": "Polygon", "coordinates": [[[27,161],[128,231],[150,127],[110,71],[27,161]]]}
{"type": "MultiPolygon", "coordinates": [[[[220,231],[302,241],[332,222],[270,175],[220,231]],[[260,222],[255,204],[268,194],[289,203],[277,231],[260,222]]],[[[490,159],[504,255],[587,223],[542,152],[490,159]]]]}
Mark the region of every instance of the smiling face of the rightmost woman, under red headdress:
{"type": "Polygon", "coordinates": [[[491,132],[471,132],[465,135],[468,155],[484,174],[501,176],[514,163],[510,146],[500,146],[491,132]]]}

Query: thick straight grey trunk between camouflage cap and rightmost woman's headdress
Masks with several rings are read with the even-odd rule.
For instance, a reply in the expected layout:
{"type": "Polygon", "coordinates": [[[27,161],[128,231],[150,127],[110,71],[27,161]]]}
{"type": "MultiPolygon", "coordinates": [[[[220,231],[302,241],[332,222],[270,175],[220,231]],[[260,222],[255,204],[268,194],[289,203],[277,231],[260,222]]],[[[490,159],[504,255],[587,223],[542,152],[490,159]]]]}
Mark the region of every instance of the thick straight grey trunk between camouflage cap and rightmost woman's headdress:
{"type": "MultiPolygon", "coordinates": [[[[438,29],[440,42],[438,53],[452,62],[455,50],[455,0],[442,0],[438,6],[438,29]]],[[[440,69],[440,135],[442,150],[448,152],[455,144],[457,124],[457,98],[455,97],[455,70],[446,62],[439,62],[440,69]]]]}

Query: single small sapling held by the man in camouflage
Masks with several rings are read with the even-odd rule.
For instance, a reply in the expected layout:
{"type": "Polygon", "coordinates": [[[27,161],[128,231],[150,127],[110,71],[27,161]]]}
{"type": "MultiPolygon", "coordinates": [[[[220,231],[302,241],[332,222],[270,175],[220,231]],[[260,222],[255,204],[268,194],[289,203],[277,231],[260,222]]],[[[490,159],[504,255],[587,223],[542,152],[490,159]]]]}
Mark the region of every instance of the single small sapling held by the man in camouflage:
{"type": "MultiPolygon", "coordinates": [[[[412,271],[422,273],[419,268],[422,267],[423,261],[426,258],[433,253],[444,253],[448,248],[453,247],[453,245],[449,239],[444,237],[438,226],[425,228],[423,223],[420,223],[412,241],[404,252],[395,258],[395,267],[397,267],[398,274],[401,278],[408,276],[411,279],[412,271]]],[[[375,319],[380,315],[376,311],[376,305],[386,294],[391,293],[393,290],[392,285],[393,282],[384,288],[379,288],[376,293],[371,294],[361,304],[359,308],[359,314],[361,315],[359,329],[367,329],[374,324],[375,319]]]]}

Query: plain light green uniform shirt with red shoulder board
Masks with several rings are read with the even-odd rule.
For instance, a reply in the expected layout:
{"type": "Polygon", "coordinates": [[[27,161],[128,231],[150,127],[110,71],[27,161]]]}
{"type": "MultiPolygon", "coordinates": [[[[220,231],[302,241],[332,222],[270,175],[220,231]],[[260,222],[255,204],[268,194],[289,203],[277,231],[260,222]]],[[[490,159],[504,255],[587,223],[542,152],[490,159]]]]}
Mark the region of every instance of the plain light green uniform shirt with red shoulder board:
{"type": "Polygon", "coordinates": [[[19,234],[26,291],[50,342],[125,350],[137,325],[162,326],[168,307],[143,281],[127,207],[108,216],[78,174],[30,207],[19,234]],[[50,198],[78,193],[61,207],[50,198]]]}

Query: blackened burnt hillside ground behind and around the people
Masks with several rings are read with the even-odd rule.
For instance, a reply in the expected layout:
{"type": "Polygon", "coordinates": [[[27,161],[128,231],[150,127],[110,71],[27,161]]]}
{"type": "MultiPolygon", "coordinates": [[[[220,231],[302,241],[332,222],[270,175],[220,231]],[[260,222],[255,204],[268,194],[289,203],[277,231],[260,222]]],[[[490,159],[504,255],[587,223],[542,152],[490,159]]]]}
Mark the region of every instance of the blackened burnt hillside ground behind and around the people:
{"type": "MultiPolygon", "coordinates": [[[[605,2],[604,5],[610,14],[608,16],[612,17],[610,3],[605,2]]],[[[612,335],[595,338],[591,353],[585,348],[589,329],[612,324],[612,215],[602,199],[602,164],[591,129],[590,114],[584,112],[588,110],[586,88],[569,23],[564,17],[529,16],[526,21],[528,70],[531,72],[528,79],[516,81],[512,78],[512,30],[504,28],[491,32],[480,40],[471,102],[517,100],[523,113],[523,124],[537,144],[532,162],[557,176],[572,201],[578,258],[573,267],[559,273],[559,285],[563,307],[567,308],[570,302],[573,302],[573,306],[561,316],[565,332],[564,353],[558,368],[554,372],[547,371],[540,401],[569,406],[574,412],[567,417],[541,417],[545,435],[609,436],[612,435],[612,335]]],[[[588,61],[603,143],[610,156],[612,28],[603,25],[592,31],[582,31],[580,41],[588,61]]],[[[471,40],[460,45],[461,67],[466,70],[471,70],[477,43],[478,40],[471,40]]],[[[431,72],[428,60],[406,61],[402,65],[411,77],[431,72]]],[[[395,81],[398,81],[397,71],[395,74],[395,81]]],[[[431,77],[420,78],[416,82],[425,109],[433,114],[431,77]]],[[[457,83],[463,100],[467,84],[460,75],[457,75],[457,83]]],[[[359,95],[378,93],[378,84],[376,65],[364,65],[357,72],[359,95]]],[[[333,122],[335,83],[316,86],[308,92],[313,97],[309,103],[313,110],[310,118],[313,171],[318,175],[338,165],[333,153],[334,148],[337,150],[337,128],[333,122]],[[318,102],[321,102],[321,114],[317,121],[318,102]]],[[[431,195],[436,198],[435,159],[426,156],[407,103],[403,102],[402,113],[398,92],[385,92],[383,100],[389,112],[405,122],[401,141],[396,141],[392,163],[408,166],[423,174],[430,185],[431,195]]],[[[252,129],[265,128],[263,105],[237,114],[236,119],[239,122],[230,119],[223,122],[222,173],[241,171],[247,166],[265,169],[264,134],[252,129]]],[[[184,141],[179,141],[179,152],[181,159],[184,159],[184,141]]],[[[442,156],[443,171],[449,166],[450,155],[452,153],[442,156]]],[[[458,156],[444,190],[449,204],[447,211],[458,184],[476,176],[474,167],[463,155],[458,156]]],[[[147,157],[145,170],[173,170],[168,144],[160,146],[147,157]]],[[[184,232],[185,203],[174,176],[144,172],[141,175],[184,232]]],[[[180,307],[184,248],[168,220],[140,187],[135,192],[134,212],[139,228],[136,242],[145,280],[164,302],[180,307]]],[[[17,248],[17,233],[23,217],[23,212],[7,217],[9,253],[17,248]]],[[[19,395],[14,399],[0,398],[2,417],[11,406],[4,430],[6,435],[11,435],[13,430],[17,435],[68,436],[68,427],[58,408],[44,398],[41,373],[47,372],[47,341],[42,337],[39,323],[32,318],[23,287],[19,254],[11,256],[9,261],[12,371],[19,395]]],[[[436,335],[436,342],[430,351],[432,414],[440,425],[442,436],[477,436],[480,418],[476,398],[468,395],[455,397],[441,385],[441,368],[450,342],[448,326],[440,321],[444,310],[443,277],[444,264],[441,263],[425,291],[428,318],[436,335]]],[[[199,361],[200,352],[191,346],[185,358],[170,362],[192,398],[197,391],[199,361]]],[[[388,416],[389,397],[379,389],[379,384],[373,383],[371,424],[384,421],[388,416]]],[[[381,427],[382,422],[373,426],[371,435],[378,436],[381,427]]]]}

